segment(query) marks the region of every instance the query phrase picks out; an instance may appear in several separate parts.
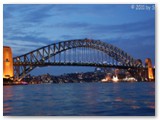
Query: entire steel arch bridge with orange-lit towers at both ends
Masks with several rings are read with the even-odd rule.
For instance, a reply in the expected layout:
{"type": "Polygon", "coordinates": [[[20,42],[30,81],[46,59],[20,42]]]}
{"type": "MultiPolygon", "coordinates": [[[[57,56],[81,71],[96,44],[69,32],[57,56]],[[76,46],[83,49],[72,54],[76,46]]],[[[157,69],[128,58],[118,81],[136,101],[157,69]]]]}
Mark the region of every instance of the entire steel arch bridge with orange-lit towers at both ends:
{"type": "Polygon", "coordinates": [[[90,66],[136,71],[147,70],[148,77],[154,79],[152,63],[149,58],[143,65],[140,59],[134,59],[122,49],[100,40],[60,41],[14,58],[12,58],[11,50],[8,58],[6,52],[7,50],[3,51],[3,66],[6,70],[6,64],[10,62],[10,71],[13,67],[13,74],[9,75],[10,73],[7,73],[6,70],[3,77],[13,77],[14,80],[21,80],[38,66],[90,66]]]}

